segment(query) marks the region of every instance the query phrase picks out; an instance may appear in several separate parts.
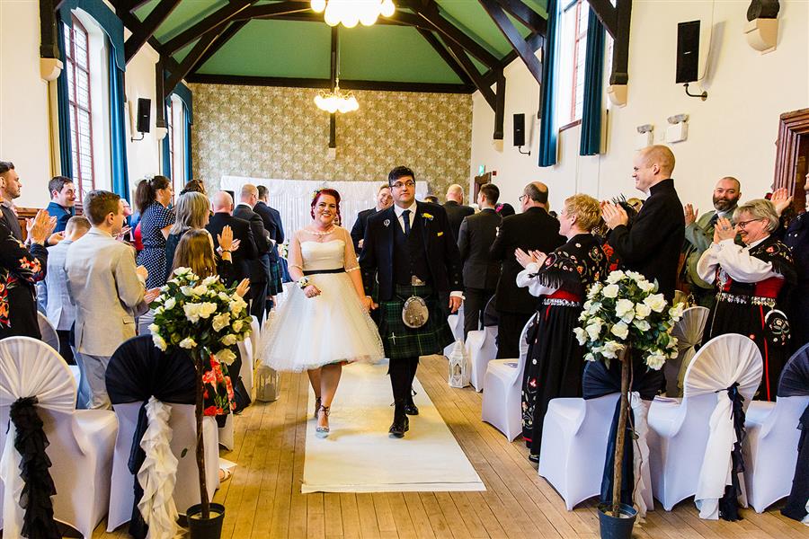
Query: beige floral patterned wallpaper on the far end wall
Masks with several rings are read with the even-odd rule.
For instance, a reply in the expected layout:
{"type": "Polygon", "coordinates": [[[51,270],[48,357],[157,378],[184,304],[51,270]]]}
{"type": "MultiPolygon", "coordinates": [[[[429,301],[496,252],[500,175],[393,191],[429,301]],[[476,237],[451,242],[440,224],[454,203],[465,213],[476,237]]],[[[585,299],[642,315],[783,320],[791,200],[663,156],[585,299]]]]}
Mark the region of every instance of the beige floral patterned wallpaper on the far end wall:
{"type": "Polygon", "coordinates": [[[360,110],[329,115],[316,90],[191,84],[194,177],[217,189],[223,174],[289,180],[384,181],[405,164],[431,192],[466,185],[472,139],[467,94],[356,91],[360,110]]]}

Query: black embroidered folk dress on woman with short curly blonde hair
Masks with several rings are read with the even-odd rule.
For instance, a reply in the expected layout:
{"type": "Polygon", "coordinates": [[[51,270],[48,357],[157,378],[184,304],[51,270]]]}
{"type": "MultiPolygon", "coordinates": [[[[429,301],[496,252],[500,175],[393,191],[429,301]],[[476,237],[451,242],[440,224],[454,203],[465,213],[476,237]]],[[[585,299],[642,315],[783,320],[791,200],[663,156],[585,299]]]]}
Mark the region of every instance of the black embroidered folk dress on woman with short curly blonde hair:
{"type": "Polygon", "coordinates": [[[517,276],[520,287],[539,297],[529,330],[528,357],[522,382],[522,437],[532,455],[539,454],[547,403],[557,397],[582,396],[584,347],[573,328],[579,325],[590,285],[605,276],[606,257],[592,234],[577,234],[551,252],[542,267],[529,264],[517,276]]]}

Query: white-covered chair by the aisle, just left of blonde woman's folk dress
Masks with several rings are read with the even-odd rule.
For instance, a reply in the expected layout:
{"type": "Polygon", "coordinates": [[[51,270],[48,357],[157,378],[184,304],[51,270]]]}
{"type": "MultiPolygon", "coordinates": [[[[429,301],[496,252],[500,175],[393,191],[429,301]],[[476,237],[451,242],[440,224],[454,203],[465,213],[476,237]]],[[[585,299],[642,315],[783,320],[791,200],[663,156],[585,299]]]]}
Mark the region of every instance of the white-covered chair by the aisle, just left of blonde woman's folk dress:
{"type": "Polygon", "coordinates": [[[529,349],[525,339],[533,321],[532,316],[520,333],[520,358],[493,359],[484,376],[481,419],[509,440],[522,434],[522,376],[529,349]]]}

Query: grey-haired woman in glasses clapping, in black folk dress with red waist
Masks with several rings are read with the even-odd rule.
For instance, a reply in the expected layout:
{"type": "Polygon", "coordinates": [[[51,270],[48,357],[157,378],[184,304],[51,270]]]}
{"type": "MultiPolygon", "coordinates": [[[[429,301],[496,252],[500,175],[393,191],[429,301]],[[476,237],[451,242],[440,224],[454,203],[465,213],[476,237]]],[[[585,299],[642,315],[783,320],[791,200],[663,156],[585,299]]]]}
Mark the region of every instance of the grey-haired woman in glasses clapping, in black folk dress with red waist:
{"type": "Polygon", "coordinates": [[[769,200],[742,204],[733,212],[733,221],[735,227],[725,217],[716,221],[714,243],[697,264],[699,278],[716,283],[717,290],[704,340],[725,333],[754,340],[764,359],[756,398],[775,401],[790,351],[789,323],[780,304],[786,288],[796,284],[795,264],[787,245],[770,235],[778,228],[778,215],[769,200]],[[734,243],[736,234],[744,246],[734,243]]]}

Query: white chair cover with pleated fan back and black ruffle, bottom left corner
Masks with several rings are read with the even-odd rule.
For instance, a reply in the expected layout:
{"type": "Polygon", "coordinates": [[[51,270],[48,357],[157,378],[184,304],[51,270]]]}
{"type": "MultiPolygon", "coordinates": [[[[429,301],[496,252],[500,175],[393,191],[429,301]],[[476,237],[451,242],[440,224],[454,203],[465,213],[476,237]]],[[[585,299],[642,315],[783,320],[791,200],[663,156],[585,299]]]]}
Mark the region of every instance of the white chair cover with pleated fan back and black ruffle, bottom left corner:
{"type": "Polygon", "coordinates": [[[47,344],[28,337],[0,340],[3,535],[19,537],[22,526],[19,453],[13,449],[9,408],[17,399],[33,395],[50,442],[50,474],[58,492],[53,497],[54,517],[90,537],[109,507],[115,416],[111,411],[76,411],[76,380],[65,360],[47,344]]]}

